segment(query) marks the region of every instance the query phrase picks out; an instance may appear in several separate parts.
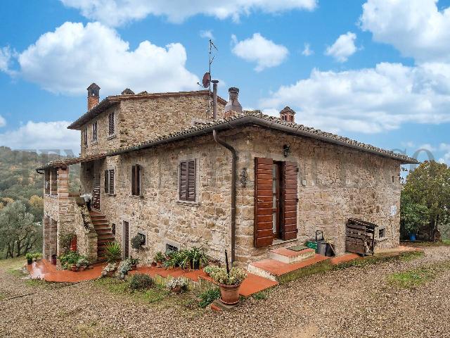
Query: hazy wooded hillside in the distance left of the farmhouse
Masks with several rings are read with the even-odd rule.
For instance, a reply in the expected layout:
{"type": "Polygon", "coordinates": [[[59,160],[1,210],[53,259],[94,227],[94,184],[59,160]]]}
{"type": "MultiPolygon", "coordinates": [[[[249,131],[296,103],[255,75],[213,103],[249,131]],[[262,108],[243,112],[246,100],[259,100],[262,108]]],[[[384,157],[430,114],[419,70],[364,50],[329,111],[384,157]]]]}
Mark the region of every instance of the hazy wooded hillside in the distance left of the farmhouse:
{"type": "MultiPolygon", "coordinates": [[[[0,203],[6,204],[8,199],[13,199],[23,201],[28,208],[31,196],[42,196],[44,189],[44,175],[38,174],[36,168],[62,157],[0,146],[0,203]]],[[[77,165],[70,167],[70,185],[73,192],[79,190],[77,165]]]]}

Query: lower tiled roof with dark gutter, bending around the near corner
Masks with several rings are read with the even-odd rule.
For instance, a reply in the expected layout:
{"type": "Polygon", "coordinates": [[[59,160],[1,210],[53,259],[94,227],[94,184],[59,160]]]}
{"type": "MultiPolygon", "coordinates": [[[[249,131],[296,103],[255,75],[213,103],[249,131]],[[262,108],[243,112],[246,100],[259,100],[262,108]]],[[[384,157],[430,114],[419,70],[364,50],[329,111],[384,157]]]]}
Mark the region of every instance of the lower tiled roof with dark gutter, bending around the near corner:
{"type": "MultiPolygon", "coordinates": [[[[288,134],[296,134],[302,137],[310,137],[313,139],[319,139],[323,142],[328,142],[332,144],[338,144],[340,146],[347,146],[352,149],[357,149],[359,151],[366,151],[371,154],[376,154],[379,156],[385,156],[389,158],[394,158],[401,163],[411,163],[416,164],[418,161],[415,158],[411,158],[406,155],[394,153],[393,151],[388,151],[385,149],[372,146],[371,144],[365,144],[362,142],[357,142],[354,139],[349,139],[348,137],[342,137],[330,132],[323,132],[321,130],[315,129],[313,127],[307,127],[305,125],[298,125],[297,123],[290,123],[281,120],[281,118],[275,118],[274,116],[269,116],[261,113],[260,111],[244,111],[243,113],[236,113],[229,118],[224,118],[221,120],[214,120],[205,123],[198,123],[193,127],[188,127],[184,130],[169,132],[168,134],[163,134],[153,139],[148,139],[139,144],[134,144],[132,146],[126,146],[114,151],[109,151],[106,154],[99,154],[98,158],[104,158],[107,156],[117,156],[120,154],[125,154],[131,151],[136,151],[140,149],[146,149],[153,146],[158,146],[160,144],[167,144],[171,142],[181,141],[183,139],[198,137],[203,134],[209,134],[212,130],[230,130],[236,127],[244,127],[245,125],[257,125],[259,127],[266,127],[273,130],[279,130],[281,132],[286,132],[288,134]]],[[[49,162],[39,170],[70,165],[74,163],[81,163],[86,161],[94,161],[97,158],[91,158],[92,156],[80,157],[80,158],[69,158],[62,161],[49,162]],[[76,162],[73,162],[75,161],[76,162]],[[73,163],[72,163],[73,162],[73,163]],[[65,163],[65,164],[64,164],[65,163]]]]}

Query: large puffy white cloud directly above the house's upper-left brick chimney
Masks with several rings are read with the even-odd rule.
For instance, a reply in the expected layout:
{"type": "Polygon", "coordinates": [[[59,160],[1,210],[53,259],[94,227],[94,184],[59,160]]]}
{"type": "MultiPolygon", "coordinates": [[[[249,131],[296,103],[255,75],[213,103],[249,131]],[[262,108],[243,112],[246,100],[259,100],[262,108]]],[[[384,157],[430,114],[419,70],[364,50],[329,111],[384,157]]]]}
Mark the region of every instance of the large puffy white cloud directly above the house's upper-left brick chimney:
{"type": "Polygon", "coordinates": [[[165,47],[143,41],[134,49],[101,23],[64,23],[18,54],[21,75],[50,92],[81,94],[96,82],[103,94],[126,87],[141,92],[194,89],[198,77],[186,65],[179,43],[165,47]]]}

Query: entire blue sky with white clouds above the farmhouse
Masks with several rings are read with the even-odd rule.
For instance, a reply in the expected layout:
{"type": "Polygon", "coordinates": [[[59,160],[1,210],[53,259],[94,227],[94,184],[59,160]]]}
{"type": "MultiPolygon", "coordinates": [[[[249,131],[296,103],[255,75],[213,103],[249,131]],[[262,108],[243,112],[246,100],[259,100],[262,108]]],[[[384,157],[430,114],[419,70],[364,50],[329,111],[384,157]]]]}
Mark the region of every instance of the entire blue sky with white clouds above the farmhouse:
{"type": "Polygon", "coordinates": [[[77,153],[91,82],[198,89],[213,39],[224,98],[450,164],[450,0],[18,0],[0,26],[0,145],[77,153]]]}

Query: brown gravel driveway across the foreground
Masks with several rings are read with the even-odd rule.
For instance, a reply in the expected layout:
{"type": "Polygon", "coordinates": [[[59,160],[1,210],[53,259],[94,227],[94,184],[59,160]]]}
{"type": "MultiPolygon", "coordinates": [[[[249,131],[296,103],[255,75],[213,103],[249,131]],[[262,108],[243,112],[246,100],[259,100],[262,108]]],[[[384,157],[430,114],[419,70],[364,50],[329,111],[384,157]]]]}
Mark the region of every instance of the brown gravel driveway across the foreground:
{"type": "Polygon", "coordinates": [[[417,289],[387,275],[450,261],[450,246],[413,261],[335,270],[281,285],[230,313],[136,302],[93,282],[30,287],[0,270],[1,337],[450,337],[450,269],[417,289]]]}

